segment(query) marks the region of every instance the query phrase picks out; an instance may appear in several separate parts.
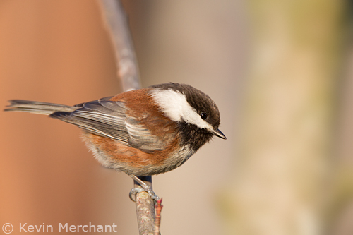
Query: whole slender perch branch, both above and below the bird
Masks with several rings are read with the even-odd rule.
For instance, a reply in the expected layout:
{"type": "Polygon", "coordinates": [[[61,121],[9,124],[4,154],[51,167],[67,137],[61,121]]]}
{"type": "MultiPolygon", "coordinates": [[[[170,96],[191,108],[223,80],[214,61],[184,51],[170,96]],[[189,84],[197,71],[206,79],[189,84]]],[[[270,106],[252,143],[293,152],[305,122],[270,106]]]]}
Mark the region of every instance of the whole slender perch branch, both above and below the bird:
{"type": "MultiPolygon", "coordinates": [[[[109,32],[114,45],[116,58],[116,69],[123,91],[140,88],[140,78],[138,75],[138,64],[135,50],[131,40],[126,13],[119,0],[100,0],[102,15],[105,27],[109,32]]],[[[140,177],[148,186],[152,187],[152,177],[140,177]]],[[[140,185],[134,182],[135,187],[140,185]]],[[[155,207],[154,200],[148,193],[136,193],[136,215],[140,234],[153,234],[155,230],[155,207]]]]}

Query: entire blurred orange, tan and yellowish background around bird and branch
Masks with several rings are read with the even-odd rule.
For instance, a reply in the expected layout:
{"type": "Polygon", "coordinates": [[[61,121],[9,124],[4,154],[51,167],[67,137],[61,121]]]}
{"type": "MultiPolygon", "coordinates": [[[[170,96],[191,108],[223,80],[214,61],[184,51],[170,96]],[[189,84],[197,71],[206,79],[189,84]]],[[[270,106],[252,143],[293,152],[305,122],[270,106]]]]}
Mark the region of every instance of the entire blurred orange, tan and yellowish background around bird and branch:
{"type": "MultiPolygon", "coordinates": [[[[153,176],[162,234],[353,234],[351,1],[123,5],[143,87],[203,90],[228,138],[153,176]]],[[[2,107],[121,92],[97,1],[0,0],[0,83],[2,107]]],[[[1,227],[115,223],[112,234],[138,234],[133,181],[100,167],[78,128],[0,120],[1,227]]]]}

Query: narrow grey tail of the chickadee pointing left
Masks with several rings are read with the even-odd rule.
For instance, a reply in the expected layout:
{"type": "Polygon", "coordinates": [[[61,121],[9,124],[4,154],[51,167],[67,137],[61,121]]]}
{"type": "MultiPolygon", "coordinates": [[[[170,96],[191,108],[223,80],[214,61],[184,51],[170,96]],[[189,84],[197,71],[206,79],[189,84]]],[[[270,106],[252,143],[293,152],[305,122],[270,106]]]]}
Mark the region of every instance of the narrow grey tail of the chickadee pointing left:
{"type": "Polygon", "coordinates": [[[4,111],[30,112],[34,114],[50,115],[54,112],[73,112],[77,107],[63,104],[52,104],[46,102],[37,102],[29,100],[9,100],[10,104],[4,111]]]}

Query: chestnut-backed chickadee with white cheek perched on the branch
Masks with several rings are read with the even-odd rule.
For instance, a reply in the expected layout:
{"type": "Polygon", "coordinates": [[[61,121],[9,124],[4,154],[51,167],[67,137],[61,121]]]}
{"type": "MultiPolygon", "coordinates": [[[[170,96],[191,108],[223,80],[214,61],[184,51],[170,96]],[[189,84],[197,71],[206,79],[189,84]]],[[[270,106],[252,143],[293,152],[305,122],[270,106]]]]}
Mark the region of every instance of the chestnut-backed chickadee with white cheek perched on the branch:
{"type": "Polygon", "coordinates": [[[4,111],[49,115],[83,129],[83,140],[104,167],[151,176],[184,164],[218,129],[220,112],[208,95],[178,83],[152,85],[75,106],[10,100],[4,111]]]}

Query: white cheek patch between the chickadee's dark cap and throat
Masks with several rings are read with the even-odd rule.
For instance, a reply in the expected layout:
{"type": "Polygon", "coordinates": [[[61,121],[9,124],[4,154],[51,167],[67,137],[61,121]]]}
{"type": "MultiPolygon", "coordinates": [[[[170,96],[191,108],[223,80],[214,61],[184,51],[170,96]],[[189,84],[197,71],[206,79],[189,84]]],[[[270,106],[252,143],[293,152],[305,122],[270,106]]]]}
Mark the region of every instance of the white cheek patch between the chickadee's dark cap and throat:
{"type": "Polygon", "coordinates": [[[165,116],[173,121],[185,121],[199,128],[213,130],[212,126],[201,119],[201,116],[186,101],[181,92],[175,90],[152,90],[151,95],[162,109],[165,116]]]}

